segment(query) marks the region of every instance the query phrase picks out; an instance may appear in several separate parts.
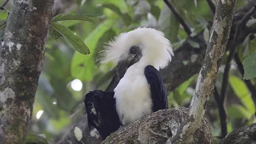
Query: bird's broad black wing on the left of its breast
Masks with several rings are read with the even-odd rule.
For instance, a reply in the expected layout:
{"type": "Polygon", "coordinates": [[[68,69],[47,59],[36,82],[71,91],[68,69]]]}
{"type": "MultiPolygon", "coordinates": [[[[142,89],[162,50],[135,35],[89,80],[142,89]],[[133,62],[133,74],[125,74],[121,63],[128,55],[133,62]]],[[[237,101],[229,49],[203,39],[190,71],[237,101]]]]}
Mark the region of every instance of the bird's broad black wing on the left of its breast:
{"type": "Polygon", "coordinates": [[[94,126],[103,139],[115,130],[118,130],[119,126],[121,126],[115,108],[113,91],[91,91],[86,94],[84,102],[89,126],[94,126]]]}

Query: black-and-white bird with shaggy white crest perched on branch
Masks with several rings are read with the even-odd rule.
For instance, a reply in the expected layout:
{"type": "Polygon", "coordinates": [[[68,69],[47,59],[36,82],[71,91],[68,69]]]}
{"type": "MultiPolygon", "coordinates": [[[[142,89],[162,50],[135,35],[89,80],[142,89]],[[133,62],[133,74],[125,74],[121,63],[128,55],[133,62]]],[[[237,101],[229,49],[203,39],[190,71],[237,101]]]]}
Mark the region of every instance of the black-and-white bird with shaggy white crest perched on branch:
{"type": "Polygon", "coordinates": [[[114,90],[86,94],[89,126],[105,139],[120,126],[167,109],[166,89],[159,70],[173,56],[170,41],[154,28],[138,27],[107,42],[100,61],[114,63],[119,82],[114,90]]]}

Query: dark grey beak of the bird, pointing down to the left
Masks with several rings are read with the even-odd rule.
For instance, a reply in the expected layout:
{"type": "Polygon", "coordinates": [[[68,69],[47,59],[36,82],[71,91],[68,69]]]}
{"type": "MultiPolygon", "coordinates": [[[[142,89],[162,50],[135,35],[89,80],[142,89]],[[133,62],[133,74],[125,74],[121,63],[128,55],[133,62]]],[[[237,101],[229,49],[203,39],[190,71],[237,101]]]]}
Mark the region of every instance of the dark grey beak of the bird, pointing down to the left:
{"type": "Polygon", "coordinates": [[[138,62],[142,58],[142,53],[139,52],[136,55],[129,55],[126,60],[122,60],[121,62],[118,62],[117,66],[117,74],[118,77],[121,79],[125,74],[126,70],[132,66],[134,63],[138,62]]]}

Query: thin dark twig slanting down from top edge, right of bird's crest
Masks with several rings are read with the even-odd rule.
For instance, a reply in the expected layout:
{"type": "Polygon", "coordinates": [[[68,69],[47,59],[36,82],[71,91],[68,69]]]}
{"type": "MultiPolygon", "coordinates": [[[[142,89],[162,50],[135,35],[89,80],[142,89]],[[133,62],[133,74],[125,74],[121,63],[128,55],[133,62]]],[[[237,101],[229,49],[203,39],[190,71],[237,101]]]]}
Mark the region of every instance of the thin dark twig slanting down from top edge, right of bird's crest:
{"type": "Polygon", "coordinates": [[[190,30],[190,27],[186,25],[186,22],[184,21],[182,16],[178,14],[178,10],[176,10],[176,8],[174,7],[174,4],[169,0],[163,0],[163,1],[166,2],[166,5],[170,8],[174,16],[178,19],[178,22],[182,24],[184,30],[186,31],[186,34],[190,37],[190,34],[192,33],[190,30]]]}

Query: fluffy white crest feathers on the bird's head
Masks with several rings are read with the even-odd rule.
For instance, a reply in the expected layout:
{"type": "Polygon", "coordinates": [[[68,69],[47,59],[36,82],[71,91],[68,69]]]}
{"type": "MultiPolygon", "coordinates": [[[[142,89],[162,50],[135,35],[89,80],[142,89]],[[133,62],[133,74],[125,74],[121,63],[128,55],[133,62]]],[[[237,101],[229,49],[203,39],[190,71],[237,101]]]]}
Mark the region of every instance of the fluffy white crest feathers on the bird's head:
{"type": "Polygon", "coordinates": [[[173,50],[170,41],[161,31],[152,28],[138,28],[128,33],[122,33],[113,41],[106,44],[101,62],[114,62],[125,60],[131,46],[139,46],[142,58],[139,62],[152,65],[156,69],[164,68],[171,61],[173,50]]]}

